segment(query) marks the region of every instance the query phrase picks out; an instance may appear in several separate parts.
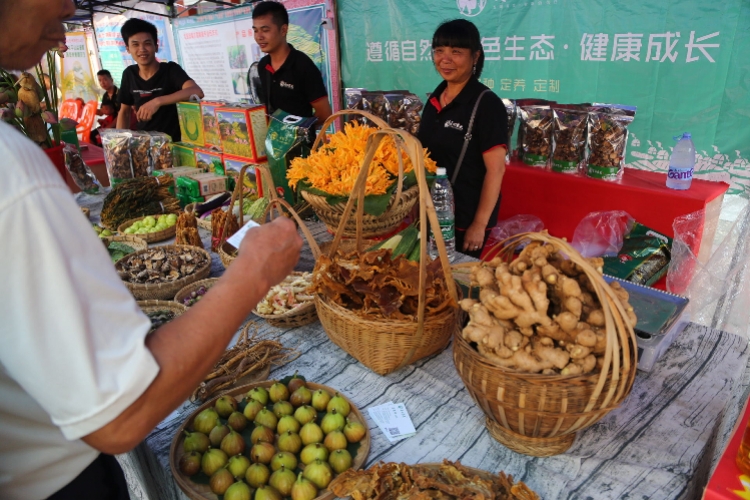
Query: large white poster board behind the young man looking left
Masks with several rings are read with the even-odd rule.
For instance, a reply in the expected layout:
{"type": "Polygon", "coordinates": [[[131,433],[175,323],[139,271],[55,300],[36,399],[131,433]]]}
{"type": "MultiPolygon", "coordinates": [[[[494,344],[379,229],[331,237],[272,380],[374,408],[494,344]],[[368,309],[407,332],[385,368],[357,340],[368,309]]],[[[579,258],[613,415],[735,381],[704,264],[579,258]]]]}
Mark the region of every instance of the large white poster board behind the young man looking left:
{"type": "MultiPolygon", "coordinates": [[[[322,22],[328,14],[325,0],[287,0],[287,41],[313,60],[334,109],[340,101],[336,33],[322,22]]],[[[331,23],[328,22],[330,26],[331,23]]],[[[252,7],[178,18],[174,36],[179,62],[201,86],[207,100],[249,102],[247,72],[263,53],[253,39],[252,7]]]]}

